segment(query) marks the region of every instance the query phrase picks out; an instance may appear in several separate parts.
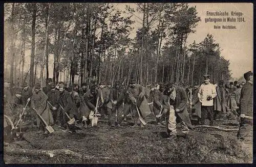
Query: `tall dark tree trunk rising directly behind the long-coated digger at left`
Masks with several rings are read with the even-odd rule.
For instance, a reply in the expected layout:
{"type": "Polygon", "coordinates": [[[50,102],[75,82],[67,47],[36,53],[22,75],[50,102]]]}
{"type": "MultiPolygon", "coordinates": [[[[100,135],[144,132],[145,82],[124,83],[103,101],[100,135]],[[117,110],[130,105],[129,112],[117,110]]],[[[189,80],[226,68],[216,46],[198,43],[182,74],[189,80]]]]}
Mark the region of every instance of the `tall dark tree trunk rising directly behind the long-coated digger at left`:
{"type": "Polygon", "coordinates": [[[31,57],[30,57],[30,75],[29,84],[33,87],[33,71],[34,71],[34,59],[35,59],[35,20],[36,20],[36,4],[32,4],[33,14],[32,14],[32,26],[31,26],[31,57]]]}

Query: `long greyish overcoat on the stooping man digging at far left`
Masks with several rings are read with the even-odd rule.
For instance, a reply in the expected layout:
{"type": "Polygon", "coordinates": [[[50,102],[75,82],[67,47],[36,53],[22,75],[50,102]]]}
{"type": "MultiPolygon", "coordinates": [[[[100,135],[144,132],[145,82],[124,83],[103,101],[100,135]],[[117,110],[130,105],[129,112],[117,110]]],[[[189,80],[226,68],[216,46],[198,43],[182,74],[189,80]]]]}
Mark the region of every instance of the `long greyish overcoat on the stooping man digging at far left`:
{"type": "MultiPolygon", "coordinates": [[[[54,121],[47,100],[48,96],[39,90],[38,93],[33,93],[31,98],[31,106],[37,110],[37,114],[41,115],[42,119],[44,119],[48,125],[52,125],[54,121]]],[[[37,127],[39,128],[41,119],[38,116],[36,117],[36,122],[37,127]]]]}

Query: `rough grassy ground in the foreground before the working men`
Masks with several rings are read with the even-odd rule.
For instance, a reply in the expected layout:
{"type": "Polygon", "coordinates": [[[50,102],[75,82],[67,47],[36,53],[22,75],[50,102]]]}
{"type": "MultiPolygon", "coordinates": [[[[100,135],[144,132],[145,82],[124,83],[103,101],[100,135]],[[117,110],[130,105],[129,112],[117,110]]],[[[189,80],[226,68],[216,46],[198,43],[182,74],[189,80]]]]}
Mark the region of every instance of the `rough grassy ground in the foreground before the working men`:
{"type": "MultiPolygon", "coordinates": [[[[144,127],[131,128],[131,119],[122,127],[110,127],[106,120],[97,127],[76,133],[56,130],[52,134],[37,134],[33,123],[26,122],[22,140],[5,145],[25,150],[73,151],[82,157],[56,154],[52,156],[6,153],[5,163],[251,163],[252,134],[237,141],[237,132],[196,128],[186,137],[167,139],[164,126],[157,126],[151,117],[144,127]],[[32,124],[32,125],[31,125],[32,124]]],[[[206,120],[208,121],[208,120],[206,120]]],[[[208,122],[206,122],[208,125],[208,122]]],[[[239,128],[238,120],[219,120],[214,126],[239,128]]]]}

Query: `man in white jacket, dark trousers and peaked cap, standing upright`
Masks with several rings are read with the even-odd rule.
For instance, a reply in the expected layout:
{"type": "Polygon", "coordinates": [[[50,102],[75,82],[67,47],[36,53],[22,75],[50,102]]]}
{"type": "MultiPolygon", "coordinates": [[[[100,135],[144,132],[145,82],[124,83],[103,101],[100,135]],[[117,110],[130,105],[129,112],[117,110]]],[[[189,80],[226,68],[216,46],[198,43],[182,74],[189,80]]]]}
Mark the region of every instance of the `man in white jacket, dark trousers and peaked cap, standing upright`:
{"type": "Polygon", "coordinates": [[[205,123],[205,115],[209,118],[209,125],[214,125],[214,98],[217,96],[216,88],[210,83],[210,75],[204,75],[204,83],[200,86],[198,97],[201,105],[202,124],[205,123]]]}

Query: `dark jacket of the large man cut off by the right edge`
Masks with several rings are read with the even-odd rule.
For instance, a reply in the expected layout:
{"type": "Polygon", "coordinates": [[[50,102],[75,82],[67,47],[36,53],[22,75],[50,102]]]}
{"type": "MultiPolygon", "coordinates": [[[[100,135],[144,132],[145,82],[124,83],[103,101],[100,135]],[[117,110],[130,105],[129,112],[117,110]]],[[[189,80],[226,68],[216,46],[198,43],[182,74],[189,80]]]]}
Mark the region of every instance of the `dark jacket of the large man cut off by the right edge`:
{"type": "Polygon", "coordinates": [[[246,81],[241,89],[240,111],[241,114],[252,117],[253,85],[246,81]]]}

